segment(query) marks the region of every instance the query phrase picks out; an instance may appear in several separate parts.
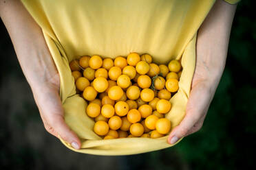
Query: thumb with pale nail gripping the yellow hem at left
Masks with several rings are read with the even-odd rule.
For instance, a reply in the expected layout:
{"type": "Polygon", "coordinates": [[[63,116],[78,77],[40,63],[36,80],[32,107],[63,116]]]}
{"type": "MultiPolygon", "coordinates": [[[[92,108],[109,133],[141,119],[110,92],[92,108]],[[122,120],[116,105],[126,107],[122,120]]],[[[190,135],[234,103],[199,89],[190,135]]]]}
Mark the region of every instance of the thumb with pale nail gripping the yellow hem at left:
{"type": "Polygon", "coordinates": [[[53,134],[58,138],[58,135],[66,141],[70,143],[74,149],[80,149],[81,141],[79,140],[78,136],[70,130],[70,127],[65,123],[63,117],[61,115],[54,115],[52,118],[54,123],[51,123],[51,127],[53,128],[53,134]]]}

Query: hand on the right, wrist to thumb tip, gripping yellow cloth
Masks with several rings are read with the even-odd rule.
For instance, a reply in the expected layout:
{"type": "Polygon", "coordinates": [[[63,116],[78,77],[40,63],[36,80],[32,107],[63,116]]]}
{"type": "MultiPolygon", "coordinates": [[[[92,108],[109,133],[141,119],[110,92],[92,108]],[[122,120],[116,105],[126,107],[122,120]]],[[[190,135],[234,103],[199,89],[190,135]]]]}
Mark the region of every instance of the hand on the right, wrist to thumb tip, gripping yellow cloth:
{"type": "Polygon", "coordinates": [[[186,105],[186,115],[180,125],[175,127],[169,135],[168,142],[170,144],[174,144],[180,138],[200,130],[222,75],[222,71],[220,71],[219,75],[211,80],[215,76],[211,76],[209,67],[200,58],[198,59],[191,84],[189,101],[186,105]]]}

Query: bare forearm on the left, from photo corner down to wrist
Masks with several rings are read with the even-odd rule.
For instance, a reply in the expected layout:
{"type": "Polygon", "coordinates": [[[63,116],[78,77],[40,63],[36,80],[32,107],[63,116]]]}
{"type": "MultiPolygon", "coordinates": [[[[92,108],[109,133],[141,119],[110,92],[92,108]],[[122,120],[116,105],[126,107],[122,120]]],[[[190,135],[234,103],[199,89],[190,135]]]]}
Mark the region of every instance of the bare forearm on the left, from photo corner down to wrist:
{"type": "MultiPolygon", "coordinates": [[[[0,1],[0,15],[8,29],[21,69],[32,88],[56,83],[58,71],[43,37],[41,27],[20,1],[0,1]]],[[[56,84],[58,86],[58,83],[56,84]]]]}

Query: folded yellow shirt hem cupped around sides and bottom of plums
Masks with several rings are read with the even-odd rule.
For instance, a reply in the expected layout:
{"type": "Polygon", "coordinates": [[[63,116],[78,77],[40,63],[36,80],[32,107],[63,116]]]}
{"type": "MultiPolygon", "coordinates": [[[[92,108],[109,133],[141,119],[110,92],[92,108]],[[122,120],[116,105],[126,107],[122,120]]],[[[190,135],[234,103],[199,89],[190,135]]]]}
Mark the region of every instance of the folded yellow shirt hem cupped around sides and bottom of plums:
{"type": "MultiPolygon", "coordinates": [[[[76,150],[69,143],[61,139],[61,142],[65,146],[81,153],[97,155],[140,154],[173,146],[167,143],[168,135],[161,138],[115,138],[103,140],[95,134],[93,131],[94,120],[85,113],[87,102],[80,95],[74,95],[75,86],[68,61],[61,56],[61,53],[59,53],[60,50],[54,41],[46,35],[45,38],[61,75],[61,90],[72,89],[73,92],[73,95],[68,95],[65,101],[63,101],[65,122],[81,138],[82,145],[81,149],[76,150]]],[[[175,93],[171,97],[171,110],[165,114],[165,117],[171,121],[172,129],[182,121],[185,115],[186,103],[195,69],[195,40],[196,36],[193,37],[186,49],[184,49],[181,58],[183,69],[179,82],[179,90],[178,93],[175,93]]],[[[176,59],[179,60],[180,58],[176,59]]]]}

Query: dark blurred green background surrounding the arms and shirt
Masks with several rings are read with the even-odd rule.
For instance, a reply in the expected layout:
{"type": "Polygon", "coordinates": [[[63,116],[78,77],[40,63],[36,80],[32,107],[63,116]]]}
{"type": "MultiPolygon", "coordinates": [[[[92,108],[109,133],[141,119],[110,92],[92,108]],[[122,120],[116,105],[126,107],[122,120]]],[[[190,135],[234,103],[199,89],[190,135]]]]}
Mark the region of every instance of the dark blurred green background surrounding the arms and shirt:
{"type": "Polygon", "coordinates": [[[77,154],[48,134],[0,23],[0,169],[253,169],[254,14],[255,8],[246,0],[237,6],[226,69],[202,130],[175,147],[134,156],[77,154]]]}

